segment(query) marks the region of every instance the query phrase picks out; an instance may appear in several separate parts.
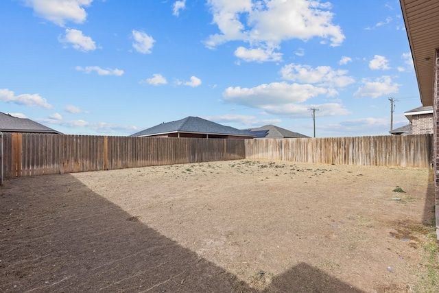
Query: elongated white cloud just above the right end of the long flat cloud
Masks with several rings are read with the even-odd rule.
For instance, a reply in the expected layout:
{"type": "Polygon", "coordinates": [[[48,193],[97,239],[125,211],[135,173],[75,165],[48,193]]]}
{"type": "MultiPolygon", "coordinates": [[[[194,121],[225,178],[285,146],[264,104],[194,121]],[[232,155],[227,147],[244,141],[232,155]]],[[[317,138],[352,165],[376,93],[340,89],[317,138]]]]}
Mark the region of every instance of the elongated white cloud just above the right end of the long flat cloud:
{"type": "Polygon", "coordinates": [[[312,68],[309,65],[295,65],[294,63],[285,65],[281,69],[284,80],[335,87],[344,87],[355,82],[351,76],[346,75],[347,73],[347,70],[334,70],[330,66],[312,68]]]}

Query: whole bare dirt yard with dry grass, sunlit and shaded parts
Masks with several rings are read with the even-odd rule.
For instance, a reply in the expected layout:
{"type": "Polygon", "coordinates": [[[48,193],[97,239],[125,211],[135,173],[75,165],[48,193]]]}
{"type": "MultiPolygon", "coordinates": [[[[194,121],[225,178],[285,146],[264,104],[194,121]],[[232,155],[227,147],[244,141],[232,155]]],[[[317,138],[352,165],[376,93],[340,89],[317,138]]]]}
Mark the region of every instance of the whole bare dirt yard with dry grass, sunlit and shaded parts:
{"type": "Polygon", "coordinates": [[[425,292],[431,172],[239,160],[6,180],[0,292],[425,292]]]}

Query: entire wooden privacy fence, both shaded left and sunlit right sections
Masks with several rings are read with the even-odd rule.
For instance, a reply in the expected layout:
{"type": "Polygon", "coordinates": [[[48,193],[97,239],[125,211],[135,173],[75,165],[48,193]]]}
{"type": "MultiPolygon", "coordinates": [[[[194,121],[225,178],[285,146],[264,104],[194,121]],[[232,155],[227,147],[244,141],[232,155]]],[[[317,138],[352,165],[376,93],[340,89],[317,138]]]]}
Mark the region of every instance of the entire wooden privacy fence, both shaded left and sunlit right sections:
{"type": "Polygon", "coordinates": [[[323,139],[195,139],[3,133],[5,178],[269,159],[304,163],[429,167],[431,134],[323,139]]]}

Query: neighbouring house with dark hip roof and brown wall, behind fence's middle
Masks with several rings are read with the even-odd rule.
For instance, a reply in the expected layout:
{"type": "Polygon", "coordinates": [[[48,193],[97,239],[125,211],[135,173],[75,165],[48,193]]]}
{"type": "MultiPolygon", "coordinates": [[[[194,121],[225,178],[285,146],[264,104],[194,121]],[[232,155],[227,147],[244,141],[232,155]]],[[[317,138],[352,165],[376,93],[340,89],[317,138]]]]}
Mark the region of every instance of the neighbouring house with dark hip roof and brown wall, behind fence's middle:
{"type": "Polygon", "coordinates": [[[130,137],[196,137],[207,139],[253,139],[248,131],[223,126],[200,117],[186,117],[163,122],[152,128],[131,134],[130,137]]]}

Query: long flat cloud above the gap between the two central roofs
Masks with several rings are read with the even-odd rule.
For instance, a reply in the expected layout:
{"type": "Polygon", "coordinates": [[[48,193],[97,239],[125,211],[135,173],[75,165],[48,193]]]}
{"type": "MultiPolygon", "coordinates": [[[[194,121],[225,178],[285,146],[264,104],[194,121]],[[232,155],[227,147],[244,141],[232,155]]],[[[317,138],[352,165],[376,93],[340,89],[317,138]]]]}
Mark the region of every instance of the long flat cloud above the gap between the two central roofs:
{"type": "Polygon", "coordinates": [[[226,102],[261,108],[268,105],[285,105],[305,102],[310,97],[327,95],[330,91],[311,84],[273,82],[253,88],[228,87],[222,94],[226,102]]]}

